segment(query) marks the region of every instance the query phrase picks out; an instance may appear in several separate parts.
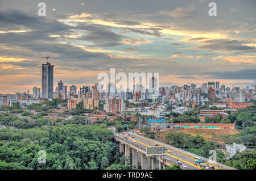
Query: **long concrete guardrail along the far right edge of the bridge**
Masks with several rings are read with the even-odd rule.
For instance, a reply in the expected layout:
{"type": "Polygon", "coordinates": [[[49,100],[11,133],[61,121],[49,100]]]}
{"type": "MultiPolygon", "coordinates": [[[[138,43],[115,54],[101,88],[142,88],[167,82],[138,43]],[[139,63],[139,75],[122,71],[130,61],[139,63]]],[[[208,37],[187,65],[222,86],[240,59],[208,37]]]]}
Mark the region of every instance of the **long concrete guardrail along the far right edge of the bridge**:
{"type": "MultiPolygon", "coordinates": [[[[168,145],[168,144],[164,144],[163,142],[160,142],[160,141],[152,140],[151,138],[147,138],[147,137],[141,136],[141,135],[136,134],[136,133],[133,133],[133,134],[136,135],[137,137],[143,138],[144,140],[151,141],[151,142],[155,142],[156,144],[166,146],[167,148],[171,148],[172,150],[179,151],[179,152],[184,153],[184,154],[187,154],[187,155],[189,155],[189,156],[191,156],[191,157],[194,157],[194,158],[195,158],[195,157],[200,157],[200,158],[202,158],[203,161],[205,161],[205,162],[208,162],[208,163],[212,162],[212,160],[210,160],[210,159],[208,159],[208,158],[201,157],[200,155],[196,155],[196,154],[190,153],[190,152],[188,152],[188,151],[184,151],[184,150],[182,150],[182,149],[176,148],[176,147],[171,146],[171,145],[168,145]]],[[[212,164],[212,163],[211,163],[211,164],[212,164]]],[[[222,164],[222,163],[218,163],[218,162],[216,162],[216,163],[214,163],[214,164],[212,164],[212,165],[216,165],[216,166],[220,167],[221,169],[237,170],[237,169],[235,169],[235,168],[233,168],[233,167],[226,166],[226,165],[224,165],[224,164],[222,164]]]]}

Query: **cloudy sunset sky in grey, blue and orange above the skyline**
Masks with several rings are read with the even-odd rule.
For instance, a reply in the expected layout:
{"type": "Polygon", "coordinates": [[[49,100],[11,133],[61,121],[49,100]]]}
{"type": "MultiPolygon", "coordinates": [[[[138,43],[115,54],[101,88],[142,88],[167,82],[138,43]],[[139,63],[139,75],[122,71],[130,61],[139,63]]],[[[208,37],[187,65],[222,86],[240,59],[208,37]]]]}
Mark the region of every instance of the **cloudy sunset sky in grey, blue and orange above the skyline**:
{"type": "Polygon", "coordinates": [[[90,86],[101,72],[159,73],[159,86],[256,85],[256,1],[0,0],[0,93],[90,86]],[[46,3],[46,16],[38,3],[46,3]],[[210,2],[217,16],[209,16],[210,2]]]}

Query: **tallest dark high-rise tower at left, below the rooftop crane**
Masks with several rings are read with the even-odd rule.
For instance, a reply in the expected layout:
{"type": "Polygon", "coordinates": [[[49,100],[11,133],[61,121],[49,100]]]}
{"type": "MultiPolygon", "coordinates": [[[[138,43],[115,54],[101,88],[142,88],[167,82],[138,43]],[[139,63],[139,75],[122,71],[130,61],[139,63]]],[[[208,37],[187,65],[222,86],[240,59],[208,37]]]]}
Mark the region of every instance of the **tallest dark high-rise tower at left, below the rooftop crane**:
{"type": "Polygon", "coordinates": [[[42,64],[42,98],[53,98],[53,67],[49,62],[42,64]]]}

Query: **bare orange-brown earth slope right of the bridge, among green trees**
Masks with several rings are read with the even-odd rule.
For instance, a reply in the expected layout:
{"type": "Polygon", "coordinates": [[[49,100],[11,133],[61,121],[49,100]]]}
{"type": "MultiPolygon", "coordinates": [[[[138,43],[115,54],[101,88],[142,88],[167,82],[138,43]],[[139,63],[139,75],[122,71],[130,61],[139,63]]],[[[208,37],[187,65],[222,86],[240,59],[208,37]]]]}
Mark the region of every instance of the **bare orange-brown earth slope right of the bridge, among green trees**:
{"type": "Polygon", "coordinates": [[[168,129],[166,131],[156,132],[155,139],[158,141],[166,142],[166,134],[171,132],[180,132],[185,134],[191,134],[193,136],[199,134],[200,136],[203,136],[207,141],[214,141],[218,143],[222,142],[220,138],[222,136],[229,136],[239,133],[239,131],[237,131],[236,129],[174,128],[168,129]]]}

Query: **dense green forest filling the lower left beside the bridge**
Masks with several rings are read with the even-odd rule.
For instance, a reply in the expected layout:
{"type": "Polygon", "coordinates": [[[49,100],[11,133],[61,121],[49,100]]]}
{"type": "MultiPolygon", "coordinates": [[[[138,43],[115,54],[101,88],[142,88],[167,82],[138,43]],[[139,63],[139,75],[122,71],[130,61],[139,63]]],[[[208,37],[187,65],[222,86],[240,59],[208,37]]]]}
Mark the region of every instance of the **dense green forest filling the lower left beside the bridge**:
{"type": "Polygon", "coordinates": [[[0,129],[0,169],[131,169],[105,125],[0,129]],[[46,151],[46,164],[39,163],[46,151]]]}

